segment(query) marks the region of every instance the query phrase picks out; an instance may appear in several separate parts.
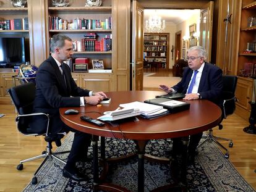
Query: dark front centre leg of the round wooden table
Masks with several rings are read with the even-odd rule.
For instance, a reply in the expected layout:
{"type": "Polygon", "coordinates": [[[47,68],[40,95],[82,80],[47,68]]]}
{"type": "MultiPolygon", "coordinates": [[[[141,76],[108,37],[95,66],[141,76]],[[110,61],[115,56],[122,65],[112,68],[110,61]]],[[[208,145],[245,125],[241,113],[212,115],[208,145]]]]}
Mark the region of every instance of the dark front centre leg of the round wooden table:
{"type": "Polygon", "coordinates": [[[135,141],[138,151],[138,191],[144,191],[144,154],[148,140],[135,141]]]}

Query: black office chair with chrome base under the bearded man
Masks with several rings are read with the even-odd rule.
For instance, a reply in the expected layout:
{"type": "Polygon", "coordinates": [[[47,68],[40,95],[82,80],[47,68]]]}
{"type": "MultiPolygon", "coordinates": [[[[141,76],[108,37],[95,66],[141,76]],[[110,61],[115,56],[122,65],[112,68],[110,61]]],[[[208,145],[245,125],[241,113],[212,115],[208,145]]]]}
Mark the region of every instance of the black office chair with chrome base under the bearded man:
{"type": "Polygon", "coordinates": [[[25,159],[20,161],[20,164],[17,165],[17,170],[23,169],[23,162],[33,161],[35,159],[45,158],[43,163],[38,167],[34,176],[32,178],[32,184],[37,183],[36,173],[41,168],[41,166],[45,163],[46,159],[49,157],[56,159],[57,161],[66,164],[62,159],[55,156],[55,154],[62,154],[69,151],[64,152],[52,152],[51,149],[53,148],[52,142],[55,141],[57,146],[61,146],[61,138],[66,135],[66,133],[58,133],[58,134],[51,134],[49,131],[49,115],[44,113],[32,113],[33,111],[33,102],[35,99],[35,84],[25,83],[22,85],[14,86],[7,90],[9,95],[11,96],[12,102],[15,106],[15,109],[19,115],[17,115],[15,121],[17,123],[17,129],[26,136],[45,136],[45,141],[47,142],[46,151],[43,151],[41,155],[36,157],[31,157],[29,159],[25,159]],[[35,133],[32,128],[30,128],[30,120],[33,116],[36,115],[43,115],[47,120],[47,125],[45,127],[45,133],[35,133]]]}

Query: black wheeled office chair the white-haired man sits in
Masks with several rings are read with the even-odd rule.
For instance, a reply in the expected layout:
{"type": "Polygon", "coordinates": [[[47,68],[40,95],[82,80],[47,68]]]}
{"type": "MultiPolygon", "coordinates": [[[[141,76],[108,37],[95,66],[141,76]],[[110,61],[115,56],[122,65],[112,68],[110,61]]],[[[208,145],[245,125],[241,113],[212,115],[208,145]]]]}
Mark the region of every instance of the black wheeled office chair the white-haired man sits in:
{"type": "MultiPolygon", "coordinates": [[[[237,101],[235,96],[236,83],[237,83],[237,76],[223,75],[223,93],[222,93],[223,106],[222,106],[221,122],[223,119],[226,119],[227,115],[233,114],[234,110],[236,109],[236,104],[235,104],[235,102],[237,101]]],[[[221,122],[219,124],[220,130],[223,128],[223,125],[221,125],[221,122]]],[[[209,133],[206,136],[206,139],[201,144],[199,144],[197,148],[202,146],[207,141],[214,141],[218,146],[220,146],[222,149],[224,149],[224,151],[226,151],[224,154],[224,157],[228,159],[229,158],[228,149],[225,148],[217,140],[229,141],[229,148],[233,147],[233,141],[231,139],[214,136],[213,129],[210,128],[209,133]]]]}

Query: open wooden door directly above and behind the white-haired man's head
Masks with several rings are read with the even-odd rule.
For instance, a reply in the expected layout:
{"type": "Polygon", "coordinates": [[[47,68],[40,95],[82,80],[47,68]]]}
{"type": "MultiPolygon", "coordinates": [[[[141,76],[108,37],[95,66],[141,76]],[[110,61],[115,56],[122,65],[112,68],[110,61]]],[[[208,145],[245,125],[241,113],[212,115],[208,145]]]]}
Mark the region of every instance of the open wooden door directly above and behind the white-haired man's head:
{"type": "Polygon", "coordinates": [[[207,61],[211,61],[211,35],[213,28],[213,1],[201,9],[200,15],[200,46],[207,51],[207,61]]]}

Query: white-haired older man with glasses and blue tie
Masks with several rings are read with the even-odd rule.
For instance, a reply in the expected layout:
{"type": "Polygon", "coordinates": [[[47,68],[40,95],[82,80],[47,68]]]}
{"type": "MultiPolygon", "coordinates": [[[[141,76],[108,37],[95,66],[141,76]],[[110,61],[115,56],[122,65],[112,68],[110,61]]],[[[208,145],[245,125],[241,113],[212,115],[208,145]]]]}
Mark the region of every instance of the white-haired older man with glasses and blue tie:
{"type": "MultiPolygon", "coordinates": [[[[166,93],[185,93],[184,100],[208,99],[221,106],[222,70],[213,64],[205,62],[206,59],[207,52],[201,46],[190,48],[187,54],[189,67],[184,69],[182,80],[173,87],[160,85],[160,89],[166,93]]],[[[195,152],[202,134],[190,135],[189,138],[173,139],[171,167],[174,169],[174,173],[172,175],[182,177],[182,170],[179,169],[181,167],[177,161],[177,159],[182,159],[182,165],[185,164],[183,166],[185,167],[183,177],[186,177],[186,164],[194,164],[195,152]],[[189,141],[188,146],[187,141],[189,141]],[[183,149],[183,154],[181,149],[183,149]],[[187,158],[184,158],[184,156],[187,158]]]]}

